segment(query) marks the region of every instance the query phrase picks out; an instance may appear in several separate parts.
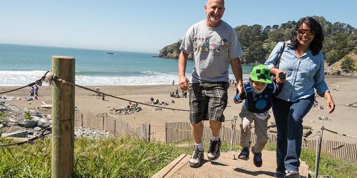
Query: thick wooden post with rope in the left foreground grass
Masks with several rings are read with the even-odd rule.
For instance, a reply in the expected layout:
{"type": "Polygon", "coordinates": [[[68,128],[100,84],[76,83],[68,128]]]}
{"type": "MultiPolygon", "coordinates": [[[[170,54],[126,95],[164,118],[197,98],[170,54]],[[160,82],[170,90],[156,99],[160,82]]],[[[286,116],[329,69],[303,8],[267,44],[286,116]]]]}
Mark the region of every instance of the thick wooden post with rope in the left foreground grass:
{"type": "MultiPolygon", "coordinates": [[[[52,57],[53,73],[68,82],[75,82],[75,59],[52,57]]],[[[52,83],[52,178],[73,177],[74,86],[52,83]]]]}

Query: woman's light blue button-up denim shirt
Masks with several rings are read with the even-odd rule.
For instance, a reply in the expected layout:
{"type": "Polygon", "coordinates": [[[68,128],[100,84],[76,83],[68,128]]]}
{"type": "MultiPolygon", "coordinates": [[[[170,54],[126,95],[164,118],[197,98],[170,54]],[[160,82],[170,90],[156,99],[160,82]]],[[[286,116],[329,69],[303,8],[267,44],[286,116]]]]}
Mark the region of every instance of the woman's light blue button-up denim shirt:
{"type": "MultiPolygon", "coordinates": [[[[269,58],[265,61],[268,68],[276,66],[282,46],[282,42],[278,43],[272,50],[269,58]]],[[[318,52],[314,56],[311,50],[307,50],[298,59],[295,56],[295,50],[290,48],[290,41],[288,41],[281,55],[279,69],[286,72],[286,82],[283,84],[280,94],[276,96],[277,98],[295,102],[313,95],[314,88],[319,95],[328,91],[322,52],[318,52]]]]}

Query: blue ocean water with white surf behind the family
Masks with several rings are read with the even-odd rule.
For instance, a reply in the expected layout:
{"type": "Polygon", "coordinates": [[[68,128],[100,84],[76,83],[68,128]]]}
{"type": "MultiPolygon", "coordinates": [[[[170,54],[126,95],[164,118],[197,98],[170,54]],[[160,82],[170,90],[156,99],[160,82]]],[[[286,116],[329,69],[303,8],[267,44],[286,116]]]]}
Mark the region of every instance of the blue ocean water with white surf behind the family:
{"type": "MultiPolygon", "coordinates": [[[[178,84],[177,59],[155,53],[86,50],[66,47],[0,44],[0,86],[22,86],[39,79],[52,66],[52,56],[76,58],[76,84],[153,85],[178,84]],[[113,53],[113,54],[108,54],[113,53]]],[[[244,80],[253,66],[243,65],[244,80]]],[[[190,79],[193,61],[188,61],[190,79]]],[[[231,69],[230,78],[235,79],[231,69]]]]}

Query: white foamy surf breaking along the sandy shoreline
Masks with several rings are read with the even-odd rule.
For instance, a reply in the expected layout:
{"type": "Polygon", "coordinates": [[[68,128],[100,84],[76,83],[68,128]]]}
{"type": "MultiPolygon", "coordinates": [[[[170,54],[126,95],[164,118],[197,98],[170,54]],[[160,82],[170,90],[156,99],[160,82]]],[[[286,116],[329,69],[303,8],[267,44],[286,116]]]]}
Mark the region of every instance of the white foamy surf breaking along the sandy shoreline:
{"type": "MultiPolygon", "coordinates": [[[[46,71],[0,71],[0,86],[26,85],[40,79],[45,72],[46,71]]],[[[191,80],[190,73],[187,73],[186,76],[188,76],[188,79],[191,80]]],[[[231,74],[230,78],[234,78],[234,75],[231,74]]],[[[248,75],[244,75],[244,80],[247,79],[248,75]]],[[[172,80],[175,81],[175,84],[179,83],[179,77],[177,74],[160,73],[155,71],[150,71],[150,74],[144,76],[106,77],[76,75],[76,84],[85,86],[172,84],[172,80]]]]}

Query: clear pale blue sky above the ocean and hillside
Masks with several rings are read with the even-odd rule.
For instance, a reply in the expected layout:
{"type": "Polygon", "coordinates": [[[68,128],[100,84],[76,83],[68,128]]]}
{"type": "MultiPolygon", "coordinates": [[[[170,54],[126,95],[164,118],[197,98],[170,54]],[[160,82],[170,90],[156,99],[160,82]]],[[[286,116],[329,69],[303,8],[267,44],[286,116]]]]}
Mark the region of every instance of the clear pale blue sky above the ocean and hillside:
{"type": "MultiPolygon", "coordinates": [[[[1,1],[0,43],[158,53],[203,20],[206,0],[1,1]]],[[[357,1],[226,0],[223,20],[281,24],[308,15],[357,27],[357,1]]]]}

